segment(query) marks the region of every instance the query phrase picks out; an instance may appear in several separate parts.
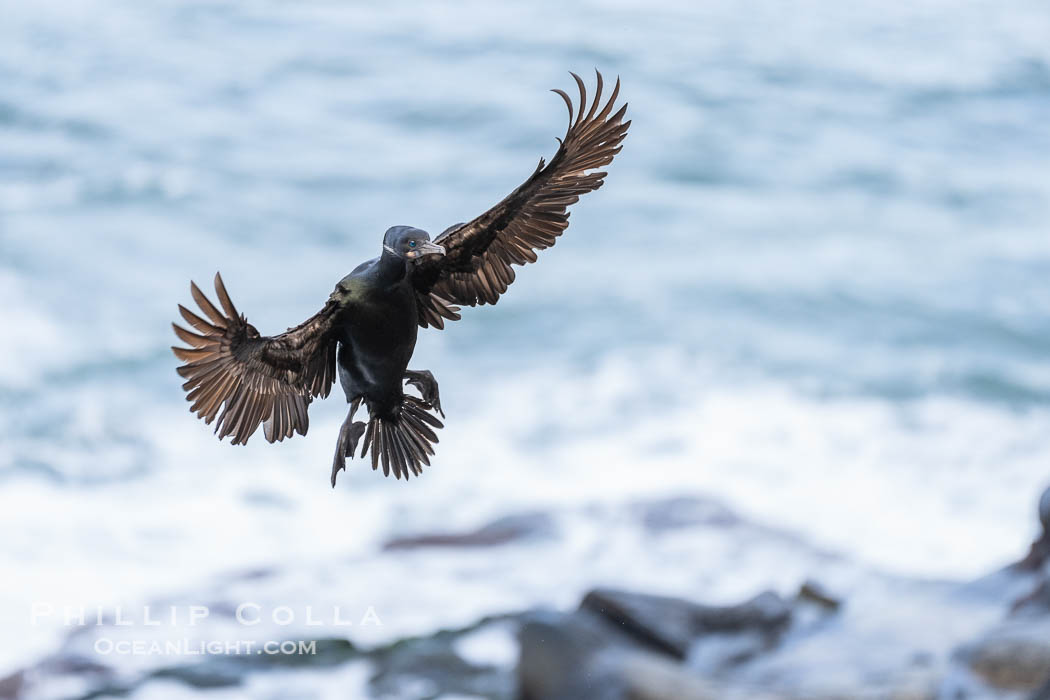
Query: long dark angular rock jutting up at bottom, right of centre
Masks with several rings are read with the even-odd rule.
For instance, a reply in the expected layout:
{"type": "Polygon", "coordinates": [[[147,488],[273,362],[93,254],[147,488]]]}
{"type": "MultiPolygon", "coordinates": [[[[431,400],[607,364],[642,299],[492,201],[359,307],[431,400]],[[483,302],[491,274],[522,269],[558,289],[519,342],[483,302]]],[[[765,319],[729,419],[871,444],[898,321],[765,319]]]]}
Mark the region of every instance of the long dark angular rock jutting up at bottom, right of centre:
{"type": "Polygon", "coordinates": [[[709,634],[758,633],[768,646],[791,620],[791,608],[770,592],[738,606],[718,607],[645,593],[595,590],[584,597],[580,607],[678,659],[686,658],[698,637],[709,634]]]}

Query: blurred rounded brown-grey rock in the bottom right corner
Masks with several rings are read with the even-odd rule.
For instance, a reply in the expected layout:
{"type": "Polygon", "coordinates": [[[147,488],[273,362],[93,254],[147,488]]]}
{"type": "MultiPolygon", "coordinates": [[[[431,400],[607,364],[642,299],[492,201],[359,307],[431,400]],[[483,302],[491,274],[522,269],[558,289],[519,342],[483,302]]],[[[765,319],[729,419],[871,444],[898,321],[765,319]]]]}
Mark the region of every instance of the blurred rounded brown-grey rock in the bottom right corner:
{"type": "Polygon", "coordinates": [[[1034,691],[1050,677],[1050,617],[1009,620],[964,648],[962,655],[992,688],[1034,691]]]}

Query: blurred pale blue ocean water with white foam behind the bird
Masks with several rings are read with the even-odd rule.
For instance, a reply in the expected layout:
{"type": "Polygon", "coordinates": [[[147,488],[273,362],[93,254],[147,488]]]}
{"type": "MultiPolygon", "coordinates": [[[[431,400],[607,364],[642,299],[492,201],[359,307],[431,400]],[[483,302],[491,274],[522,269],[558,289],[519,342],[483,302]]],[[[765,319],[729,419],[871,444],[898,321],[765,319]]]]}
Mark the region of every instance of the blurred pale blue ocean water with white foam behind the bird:
{"type": "Polygon", "coordinates": [[[68,631],[35,603],[341,602],[381,616],[350,632],[369,642],[596,584],[737,599],[820,566],[624,515],[670,496],[917,578],[1034,533],[1045,2],[0,16],[0,675],[68,631]],[[595,66],[630,102],[624,151],[497,306],[421,333],[448,415],[422,479],[355,462],[329,488],[338,390],[277,446],[187,411],[168,346],[190,279],[222,270],[262,333],[297,323],[388,226],[436,233],[530,174],[565,127],[547,89],[595,66]],[[534,511],[543,546],[381,552],[534,511]]]}

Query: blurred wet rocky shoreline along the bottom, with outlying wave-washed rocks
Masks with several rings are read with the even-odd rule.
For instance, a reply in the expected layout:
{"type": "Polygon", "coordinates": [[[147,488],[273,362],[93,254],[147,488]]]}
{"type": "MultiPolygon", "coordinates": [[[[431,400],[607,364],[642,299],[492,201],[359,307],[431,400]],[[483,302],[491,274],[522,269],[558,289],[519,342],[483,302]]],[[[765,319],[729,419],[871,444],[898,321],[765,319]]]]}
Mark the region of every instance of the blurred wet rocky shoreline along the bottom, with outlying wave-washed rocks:
{"type": "MultiPolygon", "coordinates": [[[[793,595],[766,591],[736,604],[597,588],[574,610],[488,616],[369,649],[321,637],[313,655],[206,656],[133,671],[85,654],[84,629],[0,679],[0,699],[138,697],[158,681],[236,692],[268,674],[355,667],[362,692],[380,698],[1050,700],[1050,489],[1038,511],[1043,533],[1027,556],[965,584],[881,576],[843,595],[806,580],[793,595]]],[[[644,515],[657,528],[735,522],[681,503],[644,515]]],[[[553,529],[528,513],[399,537],[384,550],[503,547],[553,529]]]]}

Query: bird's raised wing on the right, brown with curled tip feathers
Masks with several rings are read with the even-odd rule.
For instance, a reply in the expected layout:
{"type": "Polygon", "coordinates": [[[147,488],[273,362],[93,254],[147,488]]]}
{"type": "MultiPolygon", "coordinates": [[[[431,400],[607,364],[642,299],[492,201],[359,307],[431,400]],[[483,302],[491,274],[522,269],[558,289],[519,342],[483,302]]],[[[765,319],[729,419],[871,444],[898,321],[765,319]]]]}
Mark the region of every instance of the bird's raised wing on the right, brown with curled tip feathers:
{"type": "Polygon", "coordinates": [[[612,96],[601,107],[598,72],[596,94],[588,109],[584,81],[571,75],[580,87],[580,112],[574,113],[568,94],[553,90],[569,108],[569,127],[550,163],[544,166],[541,158],[532,176],[503,201],[438,236],[435,242],[444,246],[445,255],[419,263],[413,279],[423,327],[440,328],[442,319],[458,319],[453,304],[496,303],[514,280],[510,266],[534,262],[536,251],[553,246],[569,226],[569,205],[602,187],[606,173],[594,169],[609,165],[620,152],[631,125],[623,121],[627,105],[613,113],[620,94],[617,78],[612,96]]]}

